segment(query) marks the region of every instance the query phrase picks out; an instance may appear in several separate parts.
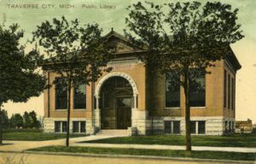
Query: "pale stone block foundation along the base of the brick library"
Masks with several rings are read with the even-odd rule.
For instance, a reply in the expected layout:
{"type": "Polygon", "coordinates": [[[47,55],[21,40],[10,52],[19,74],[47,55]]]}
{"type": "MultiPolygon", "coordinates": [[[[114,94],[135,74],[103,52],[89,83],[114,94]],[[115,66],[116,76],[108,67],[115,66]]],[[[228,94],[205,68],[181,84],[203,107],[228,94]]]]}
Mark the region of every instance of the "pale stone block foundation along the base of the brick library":
{"type": "MultiPolygon", "coordinates": [[[[98,110],[100,111],[100,110],[98,110]]],[[[95,116],[99,118],[100,112],[96,110],[95,116]]],[[[164,134],[165,133],[165,121],[179,121],[180,122],[180,133],[179,135],[185,135],[185,118],[184,117],[170,117],[170,116],[155,116],[148,117],[148,112],[145,110],[131,110],[131,127],[130,135],[154,135],[154,134],[164,134]],[[146,119],[148,118],[148,119],[146,119]],[[135,130],[136,129],[136,134],[135,130]],[[134,132],[133,132],[134,131],[134,132]]],[[[96,119],[98,120],[98,119],[96,119]]],[[[210,116],[198,116],[191,117],[191,121],[205,121],[206,122],[206,133],[204,134],[192,134],[192,135],[224,135],[234,133],[235,129],[235,119],[229,117],[210,117],[210,116]]],[[[45,133],[55,133],[55,122],[56,121],[67,121],[67,118],[44,118],[44,132],[45,133]]],[[[100,127],[100,122],[96,122],[96,127],[91,127],[91,119],[86,118],[71,118],[70,120],[70,132],[72,133],[73,121],[85,121],[86,122],[86,134],[95,134],[98,132],[100,127]]],[[[196,123],[196,129],[198,125],[196,123]]],[[[196,130],[197,132],[197,130],[196,130]]]]}

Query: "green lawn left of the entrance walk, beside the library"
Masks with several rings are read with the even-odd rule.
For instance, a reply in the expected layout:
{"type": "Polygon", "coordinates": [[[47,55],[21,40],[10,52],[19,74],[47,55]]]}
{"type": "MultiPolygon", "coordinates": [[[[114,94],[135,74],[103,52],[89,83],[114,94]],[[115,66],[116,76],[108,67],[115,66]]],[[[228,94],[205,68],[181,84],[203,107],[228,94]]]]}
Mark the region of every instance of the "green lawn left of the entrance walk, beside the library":
{"type": "MultiPolygon", "coordinates": [[[[80,137],[84,134],[71,134],[70,137],[80,137]]],[[[64,139],[65,133],[43,133],[40,129],[5,129],[3,130],[3,140],[22,141],[43,141],[51,139],[64,139]]]]}

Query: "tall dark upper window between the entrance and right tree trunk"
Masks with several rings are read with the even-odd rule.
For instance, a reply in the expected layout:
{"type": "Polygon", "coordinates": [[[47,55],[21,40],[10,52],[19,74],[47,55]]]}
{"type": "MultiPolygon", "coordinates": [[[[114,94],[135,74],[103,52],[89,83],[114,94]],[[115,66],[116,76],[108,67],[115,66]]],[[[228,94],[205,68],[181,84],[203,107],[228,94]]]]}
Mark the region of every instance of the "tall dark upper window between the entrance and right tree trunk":
{"type": "Polygon", "coordinates": [[[166,75],[166,107],[180,106],[179,78],[174,71],[166,75]]]}

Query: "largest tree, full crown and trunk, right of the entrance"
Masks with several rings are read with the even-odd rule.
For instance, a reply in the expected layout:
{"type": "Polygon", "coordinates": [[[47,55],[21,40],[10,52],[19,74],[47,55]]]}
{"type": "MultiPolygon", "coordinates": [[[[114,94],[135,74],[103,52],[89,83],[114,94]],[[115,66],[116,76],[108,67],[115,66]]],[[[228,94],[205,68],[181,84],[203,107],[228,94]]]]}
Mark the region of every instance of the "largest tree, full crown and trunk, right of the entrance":
{"type": "Polygon", "coordinates": [[[243,36],[236,24],[238,9],[230,4],[136,3],[127,8],[131,42],[147,49],[141,57],[148,69],[163,74],[175,72],[185,95],[186,150],[191,150],[190,89],[198,88],[196,77],[230,54],[230,43],[243,36]],[[193,84],[194,83],[194,84],[193,84]],[[197,84],[196,84],[197,83],[197,84]],[[197,87],[196,87],[197,86],[197,87]]]}

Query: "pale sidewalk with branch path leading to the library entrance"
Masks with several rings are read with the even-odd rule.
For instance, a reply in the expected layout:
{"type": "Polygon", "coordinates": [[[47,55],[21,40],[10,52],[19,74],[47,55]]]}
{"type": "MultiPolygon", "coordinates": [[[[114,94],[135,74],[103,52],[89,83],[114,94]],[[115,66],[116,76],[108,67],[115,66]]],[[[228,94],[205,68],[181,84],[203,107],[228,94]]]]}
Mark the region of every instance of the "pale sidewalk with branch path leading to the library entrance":
{"type": "MultiPolygon", "coordinates": [[[[93,144],[80,143],[82,141],[90,141],[97,139],[109,139],[117,136],[107,135],[92,135],[79,138],[71,138],[70,146],[83,147],[101,147],[101,148],[126,148],[126,149],[147,149],[147,150],[185,150],[185,146],[176,145],[160,145],[160,144],[93,144]]],[[[121,135],[119,137],[122,137],[121,135]]],[[[0,151],[24,151],[38,147],[65,145],[66,139],[55,139],[47,141],[3,141],[4,145],[0,146],[0,151]]],[[[211,151],[230,151],[230,152],[247,152],[256,153],[256,148],[242,147],[207,147],[207,146],[192,146],[192,150],[211,150],[211,151]]]]}

